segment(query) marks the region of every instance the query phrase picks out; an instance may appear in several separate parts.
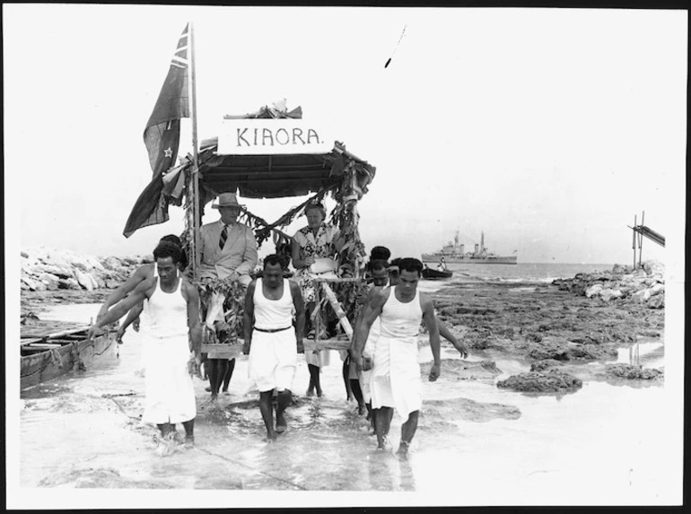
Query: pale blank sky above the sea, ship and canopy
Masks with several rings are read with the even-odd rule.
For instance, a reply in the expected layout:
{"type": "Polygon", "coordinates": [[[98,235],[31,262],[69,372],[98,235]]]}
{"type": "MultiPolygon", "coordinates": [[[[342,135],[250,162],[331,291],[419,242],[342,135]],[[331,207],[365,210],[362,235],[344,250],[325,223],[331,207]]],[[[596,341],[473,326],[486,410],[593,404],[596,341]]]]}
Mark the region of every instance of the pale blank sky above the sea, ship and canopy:
{"type": "MultiPolygon", "coordinates": [[[[626,264],[643,212],[683,237],[685,12],[5,4],[5,199],[22,248],[149,254],[182,231],[171,207],[122,235],[188,21],[199,140],[225,114],[301,106],[377,169],[358,205],[366,248],[419,257],[458,230],[520,262],[626,264]]],[[[301,200],[245,203],[273,221],[301,200]]]]}

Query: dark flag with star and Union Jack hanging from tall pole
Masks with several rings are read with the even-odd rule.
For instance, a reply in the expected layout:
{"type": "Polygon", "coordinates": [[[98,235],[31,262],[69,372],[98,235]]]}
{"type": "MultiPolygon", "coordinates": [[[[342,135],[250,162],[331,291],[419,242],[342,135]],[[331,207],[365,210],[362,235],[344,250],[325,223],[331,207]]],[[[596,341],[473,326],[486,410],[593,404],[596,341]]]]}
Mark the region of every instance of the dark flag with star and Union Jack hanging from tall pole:
{"type": "Polygon", "coordinates": [[[188,29],[189,25],[182,30],[168,76],[144,128],[144,144],[149,152],[153,178],[127,218],[123,231],[126,238],[137,229],[168,221],[168,199],[162,194],[162,177],[178,157],[180,118],[189,118],[188,29]]]}

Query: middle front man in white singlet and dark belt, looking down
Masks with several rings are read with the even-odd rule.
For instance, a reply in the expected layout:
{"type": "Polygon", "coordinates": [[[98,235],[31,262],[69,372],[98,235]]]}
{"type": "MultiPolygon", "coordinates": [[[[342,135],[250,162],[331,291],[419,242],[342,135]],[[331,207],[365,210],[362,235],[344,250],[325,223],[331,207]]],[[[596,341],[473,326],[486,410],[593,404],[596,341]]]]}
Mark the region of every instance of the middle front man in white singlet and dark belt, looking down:
{"type": "Polygon", "coordinates": [[[243,353],[249,354],[248,370],[259,390],[259,410],[267,427],[267,441],[287,428],[284,411],[292,400],[291,387],[297,354],[303,353],[304,302],[300,286],[284,279],[283,256],[264,259],[264,274],[249,284],[245,296],[243,353]],[[296,327],[293,328],[293,309],[296,327]],[[271,398],[277,391],[276,429],[271,398]]]}

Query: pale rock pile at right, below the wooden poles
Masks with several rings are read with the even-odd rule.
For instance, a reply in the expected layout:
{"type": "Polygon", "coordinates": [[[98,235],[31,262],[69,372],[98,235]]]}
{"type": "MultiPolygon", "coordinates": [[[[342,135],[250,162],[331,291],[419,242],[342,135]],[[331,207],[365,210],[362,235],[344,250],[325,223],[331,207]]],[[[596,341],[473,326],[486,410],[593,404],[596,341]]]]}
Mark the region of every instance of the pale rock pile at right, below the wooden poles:
{"type": "Polygon", "coordinates": [[[651,309],[665,306],[665,268],[657,261],[643,267],[615,265],[611,271],[580,273],[573,278],[556,279],[560,291],[570,291],[602,301],[634,301],[651,309]]]}

